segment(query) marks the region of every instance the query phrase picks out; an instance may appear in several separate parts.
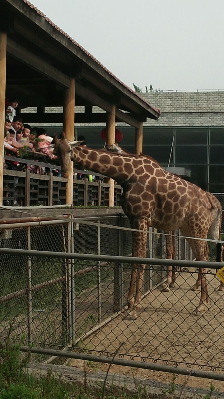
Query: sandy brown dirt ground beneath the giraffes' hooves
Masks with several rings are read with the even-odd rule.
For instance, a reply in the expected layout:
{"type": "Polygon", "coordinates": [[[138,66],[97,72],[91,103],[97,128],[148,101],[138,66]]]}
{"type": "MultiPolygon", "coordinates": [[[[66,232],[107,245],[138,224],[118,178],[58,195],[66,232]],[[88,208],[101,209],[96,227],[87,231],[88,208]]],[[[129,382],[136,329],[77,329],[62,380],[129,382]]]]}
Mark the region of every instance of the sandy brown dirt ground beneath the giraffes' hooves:
{"type": "MultiPolygon", "coordinates": [[[[156,288],[143,299],[143,310],[134,320],[125,320],[120,315],[98,332],[83,341],[86,353],[145,360],[180,367],[222,372],[224,369],[224,292],[217,292],[219,280],[212,274],[207,275],[209,303],[208,310],[202,316],[192,313],[199,303],[200,290],[190,290],[196,280],[196,274],[181,273],[177,278],[178,287],[170,292],[161,292],[156,288]],[[95,352],[96,351],[96,352],[95,352]],[[192,366],[193,365],[193,366],[192,366]]],[[[69,365],[84,367],[82,361],[71,360],[69,365]]],[[[106,371],[103,363],[85,363],[88,371],[106,371]]],[[[168,382],[172,374],[144,369],[134,369],[112,365],[110,372],[134,375],[146,379],[168,382]]],[[[187,378],[187,377],[186,377],[187,378]]],[[[176,382],[182,384],[185,376],[178,375],[176,382]]],[[[209,379],[190,377],[187,385],[209,387],[209,379]]],[[[216,389],[224,391],[224,382],[214,381],[216,389]]]]}

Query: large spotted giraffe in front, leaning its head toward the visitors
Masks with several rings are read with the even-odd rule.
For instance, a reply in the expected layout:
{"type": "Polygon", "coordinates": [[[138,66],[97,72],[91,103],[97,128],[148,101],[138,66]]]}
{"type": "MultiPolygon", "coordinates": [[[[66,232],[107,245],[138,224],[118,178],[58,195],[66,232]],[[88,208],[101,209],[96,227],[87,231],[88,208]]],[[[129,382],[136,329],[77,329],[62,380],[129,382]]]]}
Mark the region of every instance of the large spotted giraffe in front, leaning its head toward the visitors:
{"type": "MultiPolygon", "coordinates": [[[[197,261],[206,261],[205,241],[208,232],[220,241],[222,207],[212,194],[195,184],[161,168],[157,161],[144,155],[121,155],[82,147],[63,134],[55,136],[54,154],[61,163],[62,175],[67,176],[68,165],[75,163],[116,180],[123,188],[121,205],[132,229],[132,256],[145,257],[148,226],[172,231],[177,228],[187,240],[197,261]],[[136,231],[137,230],[137,231],[136,231]],[[194,240],[193,237],[198,238],[194,240]]],[[[222,261],[223,247],[216,245],[222,261]]],[[[141,291],[145,265],[132,265],[126,319],[135,320],[141,310],[141,291]]],[[[200,286],[200,301],[193,313],[207,310],[208,288],[206,268],[200,268],[194,289],[200,286]]],[[[221,283],[220,290],[224,290],[221,283]]]]}

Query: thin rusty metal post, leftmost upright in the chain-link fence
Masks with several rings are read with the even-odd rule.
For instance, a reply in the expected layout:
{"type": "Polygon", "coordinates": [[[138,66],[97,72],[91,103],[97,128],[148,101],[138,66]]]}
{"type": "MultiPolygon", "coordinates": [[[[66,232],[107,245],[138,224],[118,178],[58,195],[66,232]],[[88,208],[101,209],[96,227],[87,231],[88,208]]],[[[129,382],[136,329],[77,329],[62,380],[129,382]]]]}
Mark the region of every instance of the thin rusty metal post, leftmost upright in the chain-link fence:
{"type": "MultiPolygon", "coordinates": [[[[30,227],[27,228],[27,242],[28,249],[31,250],[31,240],[30,240],[30,227]]],[[[32,282],[31,282],[31,258],[28,257],[27,261],[27,295],[28,295],[28,306],[27,306],[27,338],[28,341],[33,340],[32,336],[32,282]]]]}

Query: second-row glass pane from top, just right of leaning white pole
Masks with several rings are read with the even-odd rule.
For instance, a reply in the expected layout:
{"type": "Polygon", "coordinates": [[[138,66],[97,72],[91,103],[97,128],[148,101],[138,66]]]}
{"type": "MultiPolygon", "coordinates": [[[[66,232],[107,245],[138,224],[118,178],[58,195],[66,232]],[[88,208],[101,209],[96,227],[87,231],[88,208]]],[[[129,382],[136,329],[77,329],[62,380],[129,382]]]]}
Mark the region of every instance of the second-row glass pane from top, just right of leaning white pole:
{"type": "Polygon", "coordinates": [[[175,164],[206,164],[207,146],[175,146],[175,164]]]}

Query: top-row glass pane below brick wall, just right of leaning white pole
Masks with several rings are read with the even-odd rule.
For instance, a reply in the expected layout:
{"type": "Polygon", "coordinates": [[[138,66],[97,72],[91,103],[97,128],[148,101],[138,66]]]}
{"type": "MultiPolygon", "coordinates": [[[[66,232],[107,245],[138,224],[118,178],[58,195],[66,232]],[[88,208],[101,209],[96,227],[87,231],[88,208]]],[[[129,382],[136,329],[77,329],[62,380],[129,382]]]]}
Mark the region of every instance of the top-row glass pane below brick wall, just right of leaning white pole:
{"type": "Polygon", "coordinates": [[[176,128],[176,144],[207,144],[207,128],[176,128]]]}

